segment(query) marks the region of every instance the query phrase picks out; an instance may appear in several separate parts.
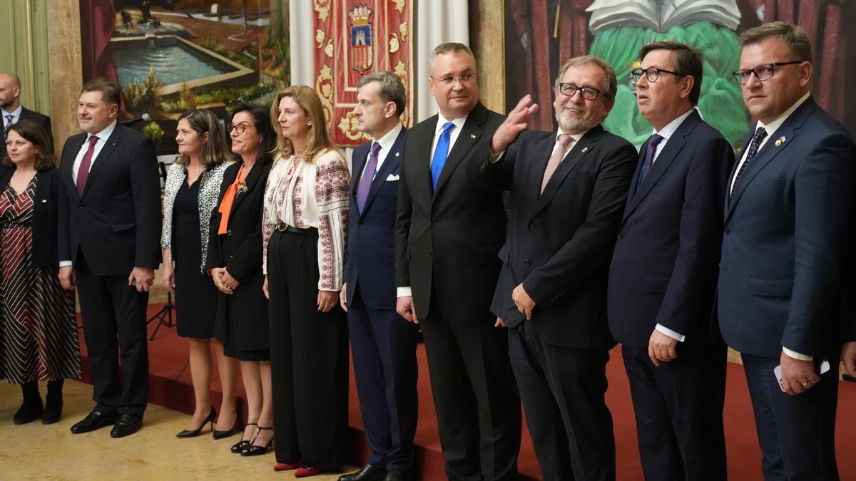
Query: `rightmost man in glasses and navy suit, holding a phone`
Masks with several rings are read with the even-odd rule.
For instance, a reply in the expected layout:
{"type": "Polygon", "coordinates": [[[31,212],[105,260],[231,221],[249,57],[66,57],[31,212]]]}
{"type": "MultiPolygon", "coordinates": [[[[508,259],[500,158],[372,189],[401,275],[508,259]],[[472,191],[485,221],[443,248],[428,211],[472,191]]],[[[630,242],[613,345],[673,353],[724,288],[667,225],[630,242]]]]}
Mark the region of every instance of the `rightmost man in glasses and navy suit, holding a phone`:
{"type": "Polygon", "coordinates": [[[764,478],[837,479],[838,369],[829,361],[841,349],[841,295],[853,294],[841,285],[856,145],[811,98],[811,43],[800,27],[764,24],[740,34],[740,47],[734,77],[758,123],[728,181],[722,336],[743,359],[764,478]]]}

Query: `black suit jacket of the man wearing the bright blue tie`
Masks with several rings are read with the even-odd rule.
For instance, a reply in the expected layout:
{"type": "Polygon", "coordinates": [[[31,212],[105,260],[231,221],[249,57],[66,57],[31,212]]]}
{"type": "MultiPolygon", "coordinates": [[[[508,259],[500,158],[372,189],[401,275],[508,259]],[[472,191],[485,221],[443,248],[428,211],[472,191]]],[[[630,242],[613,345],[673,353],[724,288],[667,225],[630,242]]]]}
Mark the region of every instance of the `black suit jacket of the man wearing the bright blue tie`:
{"type": "Polygon", "coordinates": [[[419,318],[428,316],[432,289],[447,319],[483,322],[490,317],[505,210],[500,193],[474,187],[464,166],[484,155],[503,119],[476,104],[449,151],[436,192],[430,165],[437,116],[407,132],[398,181],[395,285],[413,289],[419,318]]]}

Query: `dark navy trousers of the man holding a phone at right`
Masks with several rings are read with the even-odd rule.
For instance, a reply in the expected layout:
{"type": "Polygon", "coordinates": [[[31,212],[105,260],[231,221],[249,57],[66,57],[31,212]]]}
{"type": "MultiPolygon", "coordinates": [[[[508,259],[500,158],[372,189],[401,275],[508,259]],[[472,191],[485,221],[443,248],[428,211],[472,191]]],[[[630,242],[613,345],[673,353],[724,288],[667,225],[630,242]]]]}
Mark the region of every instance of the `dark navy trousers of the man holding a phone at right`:
{"type": "MultiPolygon", "coordinates": [[[[811,389],[788,395],[773,369],[779,359],[743,353],[743,370],[761,445],[764,479],[838,479],[835,463],[835,409],[838,405],[838,357],[835,367],[811,389]]],[[[819,372],[819,371],[818,371],[819,372]]]]}

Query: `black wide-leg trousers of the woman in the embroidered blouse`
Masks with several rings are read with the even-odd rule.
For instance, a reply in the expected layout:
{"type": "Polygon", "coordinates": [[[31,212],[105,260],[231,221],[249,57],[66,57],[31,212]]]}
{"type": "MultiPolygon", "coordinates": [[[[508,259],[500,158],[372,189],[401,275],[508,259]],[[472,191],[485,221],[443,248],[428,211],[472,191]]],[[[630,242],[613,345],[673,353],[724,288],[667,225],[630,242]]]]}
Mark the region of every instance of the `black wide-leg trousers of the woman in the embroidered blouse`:
{"type": "Polygon", "coordinates": [[[267,255],[276,461],[345,464],[348,321],[319,312],[318,235],[275,230],[267,255]]]}

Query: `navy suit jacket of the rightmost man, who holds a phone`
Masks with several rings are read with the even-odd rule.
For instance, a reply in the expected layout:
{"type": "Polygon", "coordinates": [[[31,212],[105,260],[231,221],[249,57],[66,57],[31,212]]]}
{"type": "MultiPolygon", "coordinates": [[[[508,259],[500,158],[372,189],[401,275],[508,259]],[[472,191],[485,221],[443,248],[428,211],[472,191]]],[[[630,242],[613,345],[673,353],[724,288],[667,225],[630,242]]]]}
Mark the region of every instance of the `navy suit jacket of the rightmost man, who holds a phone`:
{"type": "Polygon", "coordinates": [[[755,356],[823,357],[838,347],[856,145],[812,98],[769,134],[725,203],[722,336],[755,356]]]}

